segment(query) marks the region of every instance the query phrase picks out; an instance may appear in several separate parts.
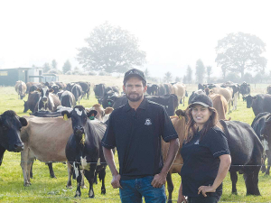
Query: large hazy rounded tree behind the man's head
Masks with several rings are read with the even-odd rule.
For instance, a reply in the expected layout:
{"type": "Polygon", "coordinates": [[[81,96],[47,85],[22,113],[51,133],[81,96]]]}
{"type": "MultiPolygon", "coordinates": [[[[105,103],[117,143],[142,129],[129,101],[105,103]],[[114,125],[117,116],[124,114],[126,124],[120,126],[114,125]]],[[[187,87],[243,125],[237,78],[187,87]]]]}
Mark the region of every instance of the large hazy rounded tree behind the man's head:
{"type": "Polygon", "coordinates": [[[88,47],[80,48],[77,57],[83,69],[123,73],[145,63],[145,51],[139,50],[135,36],[107,22],[94,28],[85,41],[88,47]]]}

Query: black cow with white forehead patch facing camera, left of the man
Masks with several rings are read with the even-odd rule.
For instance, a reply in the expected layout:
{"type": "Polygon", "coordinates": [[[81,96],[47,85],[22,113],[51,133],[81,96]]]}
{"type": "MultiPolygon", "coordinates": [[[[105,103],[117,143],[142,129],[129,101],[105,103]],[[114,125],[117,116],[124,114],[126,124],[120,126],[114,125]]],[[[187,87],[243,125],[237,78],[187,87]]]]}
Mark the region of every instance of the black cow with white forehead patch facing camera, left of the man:
{"type": "Polygon", "coordinates": [[[107,163],[101,147],[101,139],[106,131],[106,125],[98,121],[90,121],[89,116],[97,115],[97,111],[86,112],[83,106],[75,106],[69,113],[62,111],[65,117],[71,117],[73,134],[70,135],[66,145],[66,157],[68,159],[69,180],[67,186],[71,185],[71,174],[75,171],[77,177],[77,190],[75,197],[80,197],[80,182],[82,175],[80,170],[84,170],[84,175],[89,180],[89,198],[94,198],[93,182],[95,173],[102,180],[101,193],[106,193],[105,176],[107,163]]]}

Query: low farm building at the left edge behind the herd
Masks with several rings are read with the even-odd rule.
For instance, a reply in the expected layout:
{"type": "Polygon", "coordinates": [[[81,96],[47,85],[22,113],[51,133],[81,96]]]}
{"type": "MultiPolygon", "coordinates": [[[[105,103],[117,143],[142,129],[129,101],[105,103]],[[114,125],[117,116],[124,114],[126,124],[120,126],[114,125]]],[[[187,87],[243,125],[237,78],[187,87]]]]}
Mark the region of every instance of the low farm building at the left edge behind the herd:
{"type": "Polygon", "coordinates": [[[14,86],[18,80],[42,82],[42,68],[0,69],[0,86],[14,86]]]}

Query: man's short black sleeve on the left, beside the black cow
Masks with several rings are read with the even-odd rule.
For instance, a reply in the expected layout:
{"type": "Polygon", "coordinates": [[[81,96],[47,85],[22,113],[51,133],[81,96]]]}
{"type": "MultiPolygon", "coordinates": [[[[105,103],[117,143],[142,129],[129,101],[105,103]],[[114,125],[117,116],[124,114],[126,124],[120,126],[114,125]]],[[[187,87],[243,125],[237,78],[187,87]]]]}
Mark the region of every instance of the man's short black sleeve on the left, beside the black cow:
{"type": "Polygon", "coordinates": [[[112,114],[109,115],[106,133],[101,141],[102,146],[107,149],[114,149],[116,147],[116,139],[115,139],[115,134],[114,134],[114,129],[113,129],[113,122],[114,122],[114,119],[113,119],[113,112],[112,112],[112,114]]]}

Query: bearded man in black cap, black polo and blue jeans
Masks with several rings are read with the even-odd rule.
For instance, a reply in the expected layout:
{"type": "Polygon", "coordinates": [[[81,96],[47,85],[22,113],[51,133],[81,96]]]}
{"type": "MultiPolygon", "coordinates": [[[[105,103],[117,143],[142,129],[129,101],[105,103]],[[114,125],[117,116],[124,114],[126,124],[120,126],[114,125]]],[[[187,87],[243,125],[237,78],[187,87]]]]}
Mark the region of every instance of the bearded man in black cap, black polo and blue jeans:
{"type": "Polygon", "coordinates": [[[119,188],[122,202],[165,202],[164,183],[176,152],[178,134],[164,106],[148,101],[144,73],[130,69],[124,78],[123,90],[128,102],[110,115],[102,140],[103,152],[112,173],[111,184],[119,188]],[[161,136],[170,142],[167,160],[163,163],[161,136]],[[119,173],[112,149],[117,147],[119,173]]]}

